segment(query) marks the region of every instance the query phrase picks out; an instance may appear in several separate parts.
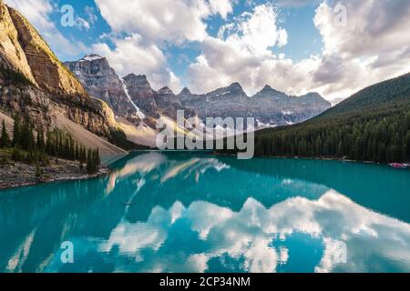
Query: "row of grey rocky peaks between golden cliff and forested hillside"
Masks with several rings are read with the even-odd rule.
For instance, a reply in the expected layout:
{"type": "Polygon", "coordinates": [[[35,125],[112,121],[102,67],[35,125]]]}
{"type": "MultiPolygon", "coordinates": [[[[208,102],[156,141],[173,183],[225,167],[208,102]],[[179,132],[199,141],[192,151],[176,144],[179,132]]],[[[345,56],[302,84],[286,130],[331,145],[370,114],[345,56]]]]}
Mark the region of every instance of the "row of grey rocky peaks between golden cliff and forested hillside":
{"type": "Polygon", "coordinates": [[[107,102],[116,115],[131,121],[137,111],[140,119],[147,119],[150,125],[162,115],[175,120],[177,110],[184,110],[186,117],[198,115],[201,119],[254,117],[260,126],[292,125],[331,107],[317,93],[290,96],[269,85],[253,96],[246,95],[239,83],[204,95],[192,94],[188,88],[176,95],[168,86],[155,91],[146,75],[129,74],[121,80],[108,60],[99,55],[86,55],[65,65],[90,95],[107,102]]]}

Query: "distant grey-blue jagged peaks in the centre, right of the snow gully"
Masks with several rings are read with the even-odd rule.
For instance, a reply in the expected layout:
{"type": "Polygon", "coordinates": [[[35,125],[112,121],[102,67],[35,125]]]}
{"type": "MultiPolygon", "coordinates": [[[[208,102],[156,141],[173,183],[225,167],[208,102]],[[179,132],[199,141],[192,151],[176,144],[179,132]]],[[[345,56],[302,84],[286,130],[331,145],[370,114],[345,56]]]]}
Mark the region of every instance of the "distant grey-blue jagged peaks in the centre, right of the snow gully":
{"type": "Polygon", "coordinates": [[[317,93],[290,96],[266,85],[259,93],[248,96],[239,83],[205,95],[194,95],[188,88],[178,95],[182,105],[195,108],[205,117],[254,117],[259,125],[292,125],[301,123],[331,104],[317,93]]]}

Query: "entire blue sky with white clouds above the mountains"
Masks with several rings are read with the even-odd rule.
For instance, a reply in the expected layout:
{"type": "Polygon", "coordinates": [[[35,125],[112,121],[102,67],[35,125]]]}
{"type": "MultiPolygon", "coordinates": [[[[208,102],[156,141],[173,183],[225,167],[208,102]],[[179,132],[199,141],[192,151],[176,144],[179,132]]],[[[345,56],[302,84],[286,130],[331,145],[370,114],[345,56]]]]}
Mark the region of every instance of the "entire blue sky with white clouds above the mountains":
{"type": "Polygon", "coordinates": [[[26,15],[62,61],[102,55],[120,77],[147,75],[155,89],[175,93],[240,82],[248,95],[271,85],[335,102],[410,72],[408,0],[5,3],[26,15]]]}

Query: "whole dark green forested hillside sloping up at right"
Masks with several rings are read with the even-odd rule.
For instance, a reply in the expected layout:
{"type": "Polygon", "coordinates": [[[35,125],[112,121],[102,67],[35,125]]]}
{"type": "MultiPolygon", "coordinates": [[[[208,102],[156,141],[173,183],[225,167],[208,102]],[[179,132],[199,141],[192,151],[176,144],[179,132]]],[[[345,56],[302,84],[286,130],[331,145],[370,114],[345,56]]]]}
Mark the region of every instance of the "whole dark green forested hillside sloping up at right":
{"type": "Polygon", "coordinates": [[[410,74],[352,95],[300,125],[256,134],[258,156],[410,160],[410,74]]]}

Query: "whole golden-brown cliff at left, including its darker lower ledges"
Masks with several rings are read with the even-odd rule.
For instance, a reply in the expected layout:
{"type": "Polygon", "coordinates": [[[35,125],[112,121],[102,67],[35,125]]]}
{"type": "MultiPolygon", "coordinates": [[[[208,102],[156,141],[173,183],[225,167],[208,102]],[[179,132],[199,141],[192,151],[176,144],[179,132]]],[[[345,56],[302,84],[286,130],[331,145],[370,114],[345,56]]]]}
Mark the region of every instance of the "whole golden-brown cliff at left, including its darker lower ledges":
{"type": "Polygon", "coordinates": [[[0,0],[0,107],[29,115],[45,126],[64,115],[85,129],[108,136],[117,127],[103,101],[87,95],[26,18],[0,0]]]}

